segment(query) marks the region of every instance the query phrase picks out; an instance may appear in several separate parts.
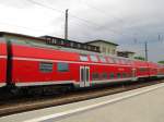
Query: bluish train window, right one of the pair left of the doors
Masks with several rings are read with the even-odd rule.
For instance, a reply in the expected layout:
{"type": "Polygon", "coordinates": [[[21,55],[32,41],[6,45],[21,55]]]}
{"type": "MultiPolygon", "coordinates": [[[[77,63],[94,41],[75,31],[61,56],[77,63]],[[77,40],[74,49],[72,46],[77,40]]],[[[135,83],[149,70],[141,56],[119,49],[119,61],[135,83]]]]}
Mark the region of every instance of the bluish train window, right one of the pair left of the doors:
{"type": "Polygon", "coordinates": [[[59,63],[57,63],[57,69],[59,72],[68,72],[69,65],[68,65],[68,63],[59,62],[59,63]]]}

